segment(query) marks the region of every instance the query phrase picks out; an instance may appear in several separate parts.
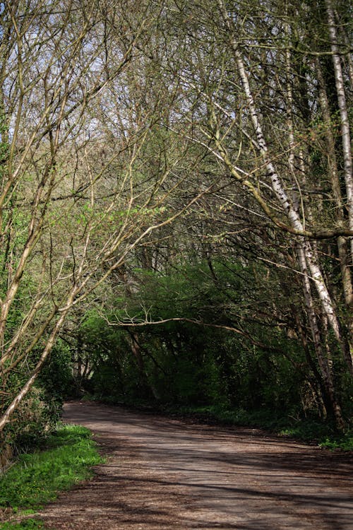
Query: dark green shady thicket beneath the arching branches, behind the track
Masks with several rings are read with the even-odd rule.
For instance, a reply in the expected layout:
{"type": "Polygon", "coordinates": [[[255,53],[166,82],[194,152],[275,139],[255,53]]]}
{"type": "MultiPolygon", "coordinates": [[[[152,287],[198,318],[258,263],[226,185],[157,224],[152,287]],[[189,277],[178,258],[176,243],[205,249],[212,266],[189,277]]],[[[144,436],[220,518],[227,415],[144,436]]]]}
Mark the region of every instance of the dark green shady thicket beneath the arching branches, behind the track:
{"type": "MultiPolygon", "coordinates": [[[[82,391],[128,404],[325,419],[313,352],[307,358],[292,336],[291,315],[281,325],[270,318],[265,275],[261,266],[229,261],[169,273],[135,269],[138,290],[113,298],[109,310],[90,310],[80,325],[91,369],[80,378],[82,391]]],[[[337,379],[345,418],[352,412],[347,377],[337,379]]]]}

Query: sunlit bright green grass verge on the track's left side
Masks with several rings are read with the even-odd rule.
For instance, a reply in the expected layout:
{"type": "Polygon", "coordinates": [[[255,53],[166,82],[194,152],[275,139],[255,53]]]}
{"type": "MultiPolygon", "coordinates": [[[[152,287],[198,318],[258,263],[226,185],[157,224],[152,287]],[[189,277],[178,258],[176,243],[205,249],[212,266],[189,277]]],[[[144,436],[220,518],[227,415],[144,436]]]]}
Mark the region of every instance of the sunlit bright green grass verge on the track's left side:
{"type": "MultiPolygon", "coordinates": [[[[42,451],[23,454],[0,478],[0,510],[16,520],[35,513],[59,491],[92,476],[91,466],[101,461],[88,429],[64,425],[48,437],[42,451]]],[[[0,523],[1,530],[40,528],[42,523],[34,519],[0,523]]]]}

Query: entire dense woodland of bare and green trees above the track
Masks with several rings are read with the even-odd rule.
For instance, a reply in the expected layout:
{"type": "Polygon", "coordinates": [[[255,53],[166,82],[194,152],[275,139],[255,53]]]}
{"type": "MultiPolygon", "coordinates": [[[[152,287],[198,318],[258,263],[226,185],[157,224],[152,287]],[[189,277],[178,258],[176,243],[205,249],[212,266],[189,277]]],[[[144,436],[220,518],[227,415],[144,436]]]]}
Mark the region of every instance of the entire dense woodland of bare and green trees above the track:
{"type": "Polygon", "coordinates": [[[84,393],[347,429],[352,5],[6,0],[0,20],[3,447],[84,393]]]}

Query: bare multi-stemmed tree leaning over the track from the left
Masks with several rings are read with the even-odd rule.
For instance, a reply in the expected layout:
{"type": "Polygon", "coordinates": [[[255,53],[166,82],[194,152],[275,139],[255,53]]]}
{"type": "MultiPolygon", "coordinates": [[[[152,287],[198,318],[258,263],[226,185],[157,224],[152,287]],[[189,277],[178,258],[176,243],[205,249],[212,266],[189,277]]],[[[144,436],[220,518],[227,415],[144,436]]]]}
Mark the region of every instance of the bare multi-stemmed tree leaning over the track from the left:
{"type": "Polygon", "coordinates": [[[17,1],[1,11],[0,430],[71,310],[188,206],[164,206],[198,155],[176,134],[157,141],[170,101],[141,49],[159,16],[149,1],[17,1]]]}

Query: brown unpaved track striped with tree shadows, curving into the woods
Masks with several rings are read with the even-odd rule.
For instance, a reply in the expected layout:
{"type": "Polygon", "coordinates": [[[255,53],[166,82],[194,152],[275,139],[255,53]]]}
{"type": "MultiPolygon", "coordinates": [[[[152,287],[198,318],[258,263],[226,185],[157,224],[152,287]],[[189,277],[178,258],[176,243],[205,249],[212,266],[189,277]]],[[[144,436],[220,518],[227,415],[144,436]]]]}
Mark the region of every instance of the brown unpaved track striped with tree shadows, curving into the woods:
{"type": "Polygon", "coordinates": [[[352,461],[259,430],[97,404],[64,420],[95,433],[105,464],[48,505],[57,530],[352,530],[352,461]]]}

